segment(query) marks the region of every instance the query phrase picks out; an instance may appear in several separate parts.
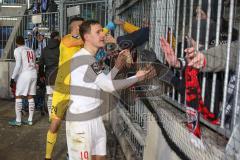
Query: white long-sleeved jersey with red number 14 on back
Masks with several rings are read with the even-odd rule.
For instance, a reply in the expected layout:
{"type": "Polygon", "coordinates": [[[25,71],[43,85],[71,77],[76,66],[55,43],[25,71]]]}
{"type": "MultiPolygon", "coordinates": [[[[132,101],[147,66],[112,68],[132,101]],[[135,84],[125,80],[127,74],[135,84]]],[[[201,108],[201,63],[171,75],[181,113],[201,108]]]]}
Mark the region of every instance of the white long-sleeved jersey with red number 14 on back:
{"type": "Polygon", "coordinates": [[[15,79],[23,72],[29,71],[36,73],[36,55],[34,51],[26,46],[20,46],[14,50],[16,60],[12,79],[15,79]]]}

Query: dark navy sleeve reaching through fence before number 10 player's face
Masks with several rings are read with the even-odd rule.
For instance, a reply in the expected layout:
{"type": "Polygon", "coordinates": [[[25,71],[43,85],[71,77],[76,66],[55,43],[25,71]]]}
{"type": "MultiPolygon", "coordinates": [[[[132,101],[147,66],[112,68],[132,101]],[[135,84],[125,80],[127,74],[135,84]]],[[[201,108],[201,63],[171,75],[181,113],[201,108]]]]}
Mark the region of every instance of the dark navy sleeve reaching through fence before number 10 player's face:
{"type": "Polygon", "coordinates": [[[149,27],[141,28],[133,33],[119,36],[117,43],[121,49],[135,48],[149,40],[149,27]]]}

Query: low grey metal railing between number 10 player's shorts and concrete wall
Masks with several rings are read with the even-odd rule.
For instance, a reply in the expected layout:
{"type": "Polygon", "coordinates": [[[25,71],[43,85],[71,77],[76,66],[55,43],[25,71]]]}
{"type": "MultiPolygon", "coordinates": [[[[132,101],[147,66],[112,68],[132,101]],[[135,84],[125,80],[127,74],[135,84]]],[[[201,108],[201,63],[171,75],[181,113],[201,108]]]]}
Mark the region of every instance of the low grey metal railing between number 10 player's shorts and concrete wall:
{"type": "Polygon", "coordinates": [[[147,132],[147,128],[145,128],[147,124],[144,126],[143,122],[147,122],[146,119],[149,111],[141,101],[136,101],[137,103],[141,103],[141,105],[128,106],[129,108],[127,107],[126,109],[126,105],[119,104],[117,108],[119,115],[117,125],[119,126],[119,131],[115,134],[117,134],[117,136],[124,135],[135,153],[135,158],[142,159],[147,132]],[[139,115],[138,110],[145,110],[143,111],[144,114],[139,115]]]}

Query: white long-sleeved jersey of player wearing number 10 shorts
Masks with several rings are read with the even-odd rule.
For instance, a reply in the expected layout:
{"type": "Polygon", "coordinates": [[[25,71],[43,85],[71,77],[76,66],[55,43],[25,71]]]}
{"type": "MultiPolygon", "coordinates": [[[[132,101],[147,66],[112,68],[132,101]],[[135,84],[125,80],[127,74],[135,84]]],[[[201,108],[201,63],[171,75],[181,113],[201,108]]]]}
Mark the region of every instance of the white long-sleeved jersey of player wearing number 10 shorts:
{"type": "Polygon", "coordinates": [[[70,100],[69,111],[80,114],[96,109],[102,104],[100,91],[114,92],[126,88],[137,82],[133,76],[123,80],[113,80],[118,69],[113,68],[107,75],[99,69],[90,52],[85,48],[80,49],[71,61],[70,100]]]}

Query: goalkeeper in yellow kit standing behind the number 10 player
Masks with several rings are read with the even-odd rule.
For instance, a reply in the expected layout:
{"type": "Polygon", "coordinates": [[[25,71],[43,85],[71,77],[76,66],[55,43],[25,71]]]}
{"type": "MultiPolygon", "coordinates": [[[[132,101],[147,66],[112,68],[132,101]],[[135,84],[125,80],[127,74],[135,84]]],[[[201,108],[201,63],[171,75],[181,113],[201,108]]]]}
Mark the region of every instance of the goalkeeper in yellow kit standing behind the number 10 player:
{"type": "Polygon", "coordinates": [[[46,160],[52,157],[52,151],[57,139],[57,132],[69,103],[70,60],[83,46],[83,41],[79,36],[79,27],[83,21],[84,19],[80,17],[71,19],[71,33],[64,36],[60,43],[59,67],[52,99],[51,124],[47,133],[46,160]]]}

